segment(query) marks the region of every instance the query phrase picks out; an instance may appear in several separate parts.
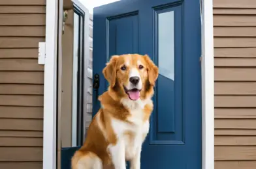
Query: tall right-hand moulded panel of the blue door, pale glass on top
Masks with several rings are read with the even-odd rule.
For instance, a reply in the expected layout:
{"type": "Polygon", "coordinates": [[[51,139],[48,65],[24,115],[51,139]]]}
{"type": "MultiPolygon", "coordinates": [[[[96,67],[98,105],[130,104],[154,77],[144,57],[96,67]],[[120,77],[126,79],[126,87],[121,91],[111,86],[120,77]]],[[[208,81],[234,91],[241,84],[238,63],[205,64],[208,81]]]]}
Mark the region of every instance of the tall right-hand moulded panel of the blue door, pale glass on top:
{"type": "Polygon", "coordinates": [[[184,144],[182,116],[182,8],[155,11],[155,91],[152,144],[184,144]]]}

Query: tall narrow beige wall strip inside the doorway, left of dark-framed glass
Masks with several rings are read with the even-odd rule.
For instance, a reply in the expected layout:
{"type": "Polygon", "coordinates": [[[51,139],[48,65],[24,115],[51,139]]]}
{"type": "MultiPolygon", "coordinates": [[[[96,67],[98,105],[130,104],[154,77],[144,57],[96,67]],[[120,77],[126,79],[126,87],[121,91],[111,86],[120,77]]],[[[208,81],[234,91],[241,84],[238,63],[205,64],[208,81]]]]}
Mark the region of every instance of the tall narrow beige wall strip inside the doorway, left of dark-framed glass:
{"type": "Polygon", "coordinates": [[[72,59],[74,10],[67,10],[68,17],[62,34],[61,77],[61,147],[72,145],[72,59]]]}

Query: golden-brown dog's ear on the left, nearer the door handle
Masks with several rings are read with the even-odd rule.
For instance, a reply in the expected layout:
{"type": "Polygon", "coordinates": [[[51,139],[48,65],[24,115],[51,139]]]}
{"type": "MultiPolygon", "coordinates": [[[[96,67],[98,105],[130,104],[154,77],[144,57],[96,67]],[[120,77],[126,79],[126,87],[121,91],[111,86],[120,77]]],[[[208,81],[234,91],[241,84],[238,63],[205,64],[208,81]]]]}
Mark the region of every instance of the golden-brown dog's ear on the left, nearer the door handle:
{"type": "Polygon", "coordinates": [[[110,84],[111,88],[116,85],[116,64],[118,63],[118,57],[118,55],[112,56],[109,62],[106,64],[106,67],[103,69],[103,75],[110,84]]]}

